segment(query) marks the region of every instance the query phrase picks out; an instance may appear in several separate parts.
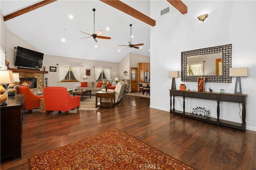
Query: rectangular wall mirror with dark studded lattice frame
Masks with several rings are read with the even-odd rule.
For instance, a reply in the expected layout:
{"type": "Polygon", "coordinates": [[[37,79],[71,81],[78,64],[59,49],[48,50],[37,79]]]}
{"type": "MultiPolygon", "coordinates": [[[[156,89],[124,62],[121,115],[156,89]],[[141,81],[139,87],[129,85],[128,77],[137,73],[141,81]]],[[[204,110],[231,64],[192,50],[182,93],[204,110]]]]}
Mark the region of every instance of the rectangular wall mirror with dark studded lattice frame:
{"type": "Polygon", "coordinates": [[[197,81],[198,77],[205,77],[205,82],[230,83],[232,81],[229,76],[231,61],[232,44],[183,51],[181,52],[181,81],[197,81]],[[200,63],[196,68],[200,71],[196,71],[190,63],[200,63]]]}

